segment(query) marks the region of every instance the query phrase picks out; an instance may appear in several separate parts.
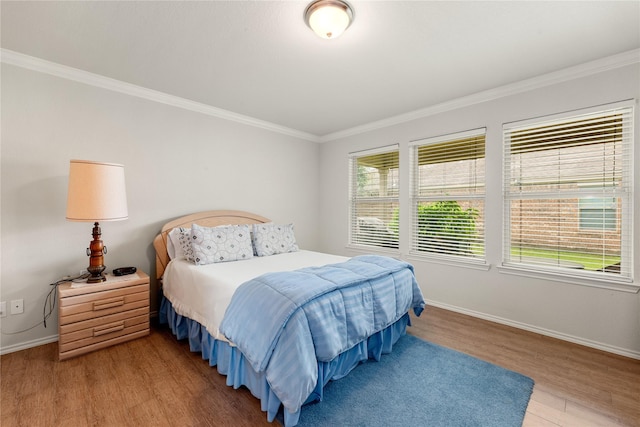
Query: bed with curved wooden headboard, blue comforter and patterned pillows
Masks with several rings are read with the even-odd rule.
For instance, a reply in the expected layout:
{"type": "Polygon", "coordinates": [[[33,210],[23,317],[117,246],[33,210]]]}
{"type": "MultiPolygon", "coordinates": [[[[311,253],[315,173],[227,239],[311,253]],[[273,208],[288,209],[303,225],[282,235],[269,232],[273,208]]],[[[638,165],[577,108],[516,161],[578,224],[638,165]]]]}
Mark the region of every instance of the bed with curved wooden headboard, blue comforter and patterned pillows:
{"type": "Polygon", "coordinates": [[[329,381],[390,352],[410,324],[409,310],[424,308],[410,264],[300,250],[291,224],[249,212],[177,218],[154,248],[160,323],[187,339],[228,386],[248,388],[269,422],[281,410],[287,427],[299,422],[304,404],[322,400],[329,381]],[[276,230],[284,233],[277,245],[276,230]],[[224,233],[225,243],[216,243],[224,233]]]}

